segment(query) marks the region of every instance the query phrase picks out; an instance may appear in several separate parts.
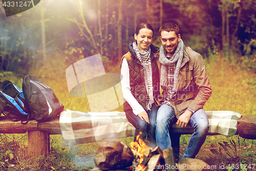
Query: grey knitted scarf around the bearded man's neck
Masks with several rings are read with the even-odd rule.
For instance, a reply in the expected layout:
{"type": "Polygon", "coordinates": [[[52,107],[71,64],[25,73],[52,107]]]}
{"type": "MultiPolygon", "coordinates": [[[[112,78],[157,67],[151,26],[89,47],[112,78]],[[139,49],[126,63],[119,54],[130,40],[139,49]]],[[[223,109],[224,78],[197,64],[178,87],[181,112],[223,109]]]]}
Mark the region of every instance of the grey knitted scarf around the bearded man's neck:
{"type": "MultiPolygon", "coordinates": [[[[161,65],[161,78],[160,78],[160,85],[164,86],[164,87],[168,87],[168,92],[175,92],[177,90],[177,85],[178,85],[178,79],[179,79],[179,72],[180,72],[180,66],[181,66],[181,62],[183,59],[183,48],[184,48],[184,44],[182,39],[180,39],[178,46],[176,48],[176,51],[173,55],[173,57],[171,57],[169,60],[166,58],[166,51],[163,48],[163,45],[161,45],[160,47],[160,53],[159,53],[159,62],[162,64],[161,65]],[[174,86],[172,87],[172,89],[169,89],[169,83],[168,83],[168,77],[167,77],[167,65],[171,65],[172,63],[176,64],[176,69],[174,72],[174,86]]],[[[170,97],[171,98],[171,97],[170,97]]]]}

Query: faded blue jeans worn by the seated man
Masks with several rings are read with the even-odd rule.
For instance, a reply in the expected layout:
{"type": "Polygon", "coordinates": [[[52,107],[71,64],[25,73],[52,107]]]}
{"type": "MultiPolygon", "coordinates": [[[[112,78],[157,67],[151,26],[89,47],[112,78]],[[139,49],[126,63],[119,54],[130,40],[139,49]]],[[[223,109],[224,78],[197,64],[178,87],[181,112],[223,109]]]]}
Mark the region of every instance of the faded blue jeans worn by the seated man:
{"type": "MultiPolygon", "coordinates": [[[[157,112],[156,120],[156,141],[157,146],[162,150],[171,146],[169,125],[177,122],[174,108],[163,104],[157,112]]],[[[195,158],[203,145],[209,130],[208,117],[203,109],[191,115],[188,123],[194,128],[194,133],[190,137],[182,158],[195,158]]]]}

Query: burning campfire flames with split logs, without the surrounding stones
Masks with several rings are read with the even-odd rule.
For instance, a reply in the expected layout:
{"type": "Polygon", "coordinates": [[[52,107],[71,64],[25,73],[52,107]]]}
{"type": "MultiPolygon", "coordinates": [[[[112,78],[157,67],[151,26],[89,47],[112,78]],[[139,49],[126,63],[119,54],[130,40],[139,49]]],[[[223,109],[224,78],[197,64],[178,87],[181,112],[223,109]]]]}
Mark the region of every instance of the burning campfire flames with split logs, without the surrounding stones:
{"type": "Polygon", "coordinates": [[[140,132],[136,137],[136,141],[131,142],[130,144],[133,154],[139,158],[139,163],[136,166],[135,171],[175,170],[172,169],[172,166],[175,166],[172,148],[162,151],[156,146],[155,149],[152,149],[139,138],[141,134],[142,133],[140,132]]]}

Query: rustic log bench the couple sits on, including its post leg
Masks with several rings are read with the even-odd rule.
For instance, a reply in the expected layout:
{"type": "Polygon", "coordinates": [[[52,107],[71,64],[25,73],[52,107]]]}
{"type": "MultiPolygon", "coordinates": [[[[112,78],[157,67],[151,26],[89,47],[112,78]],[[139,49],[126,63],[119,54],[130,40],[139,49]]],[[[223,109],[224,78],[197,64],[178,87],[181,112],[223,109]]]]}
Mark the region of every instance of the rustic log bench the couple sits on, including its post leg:
{"type": "MultiPolygon", "coordinates": [[[[176,124],[170,127],[170,129],[174,132],[172,143],[175,146],[179,146],[180,144],[180,135],[193,134],[194,132],[190,126],[181,128],[176,124]]],[[[23,134],[27,131],[29,158],[48,154],[50,152],[50,135],[61,134],[59,117],[44,123],[37,123],[36,120],[30,120],[26,125],[21,124],[20,121],[14,122],[6,116],[0,117],[0,133],[23,134]]],[[[243,138],[256,139],[256,116],[242,116],[238,120],[238,131],[236,134],[239,134],[243,138]]],[[[179,151],[179,149],[174,149],[174,151],[179,151]]]]}

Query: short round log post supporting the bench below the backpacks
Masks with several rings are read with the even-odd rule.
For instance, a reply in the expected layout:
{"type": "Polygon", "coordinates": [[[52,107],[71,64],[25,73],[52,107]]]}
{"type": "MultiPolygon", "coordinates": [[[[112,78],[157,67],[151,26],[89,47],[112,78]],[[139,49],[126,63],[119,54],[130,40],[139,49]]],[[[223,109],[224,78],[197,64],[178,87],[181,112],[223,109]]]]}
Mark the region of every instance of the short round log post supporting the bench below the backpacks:
{"type": "MultiPolygon", "coordinates": [[[[39,157],[47,154],[50,141],[47,131],[28,131],[28,156],[39,157]]],[[[49,149],[49,150],[48,150],[49,149]]]]}

